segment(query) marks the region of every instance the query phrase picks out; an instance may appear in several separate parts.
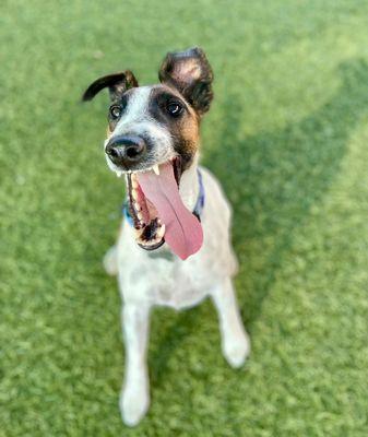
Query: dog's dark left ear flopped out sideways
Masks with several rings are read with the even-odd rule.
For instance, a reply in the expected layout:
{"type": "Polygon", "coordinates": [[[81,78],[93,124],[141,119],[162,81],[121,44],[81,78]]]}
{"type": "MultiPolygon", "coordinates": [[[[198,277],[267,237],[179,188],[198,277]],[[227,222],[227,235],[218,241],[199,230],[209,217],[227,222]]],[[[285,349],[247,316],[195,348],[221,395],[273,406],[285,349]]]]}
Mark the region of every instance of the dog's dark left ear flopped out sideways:
{"type": "Polygon", "coordinates": [[[92,101],[102,90],[108,87],[111,101],[117,101],[129,88],[138,86],[134,74],[130,71],[104,75],[96,79],[84,92],[83,102],[92,101]]]}

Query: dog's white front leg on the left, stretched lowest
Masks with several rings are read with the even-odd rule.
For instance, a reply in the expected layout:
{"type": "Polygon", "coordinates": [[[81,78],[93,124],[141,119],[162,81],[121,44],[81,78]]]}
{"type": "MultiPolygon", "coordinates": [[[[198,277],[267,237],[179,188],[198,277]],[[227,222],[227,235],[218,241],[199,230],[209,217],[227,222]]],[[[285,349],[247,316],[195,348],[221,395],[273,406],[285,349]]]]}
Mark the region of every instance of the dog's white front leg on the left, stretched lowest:
{"type": "Polygon", "coordinates": [[[122,327],[126,341],[126,374],[120,397],[123,422],[136,425],[150,405],[150,382],[146,365],[150,307],[126,303],[122,308],[122,327]]]}

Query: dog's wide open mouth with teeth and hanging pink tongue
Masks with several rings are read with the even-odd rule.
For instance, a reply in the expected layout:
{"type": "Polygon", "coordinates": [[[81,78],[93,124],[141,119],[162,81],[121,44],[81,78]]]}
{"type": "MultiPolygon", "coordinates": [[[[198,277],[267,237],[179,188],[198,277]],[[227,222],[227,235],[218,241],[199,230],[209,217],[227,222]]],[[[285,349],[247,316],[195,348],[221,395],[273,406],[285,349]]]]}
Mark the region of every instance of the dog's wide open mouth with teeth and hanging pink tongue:
{"type": "Polygon", "coordinates": [[[198,218],[181,201],[180,177],[179,157],[146,172],[128,173],[128,198],[138,245],[154,250],[166,241],[186,259],[200,249],[203,234],[198,218]]]}

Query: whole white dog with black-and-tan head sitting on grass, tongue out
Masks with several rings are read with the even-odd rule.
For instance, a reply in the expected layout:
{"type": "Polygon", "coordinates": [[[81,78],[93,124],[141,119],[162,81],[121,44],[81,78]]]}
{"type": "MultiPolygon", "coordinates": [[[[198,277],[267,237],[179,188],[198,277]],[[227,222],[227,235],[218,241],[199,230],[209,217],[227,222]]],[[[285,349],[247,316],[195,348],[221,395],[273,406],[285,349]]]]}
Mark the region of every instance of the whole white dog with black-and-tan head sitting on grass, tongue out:
{"type": "MultiPolygon", "coordinates": [[[[232,283],[232,210],[215,177],[199,166],[200,123],[213,99],[212,68],[200,48],[166,55],[159,84],[139,86],[130,71],[94,81],[82,99],[108,88],[109,168],[127,180],[124,220],[104,259],[118,275],[126,344],[120,411],[136,425],[150,405],[146,350],[150,311],[182,309],[210,296],[218,311],[222,350],[233,367],[250,342],[232,283]]],[[[222,145],[223,146],[223,145],[222,145]]]]}

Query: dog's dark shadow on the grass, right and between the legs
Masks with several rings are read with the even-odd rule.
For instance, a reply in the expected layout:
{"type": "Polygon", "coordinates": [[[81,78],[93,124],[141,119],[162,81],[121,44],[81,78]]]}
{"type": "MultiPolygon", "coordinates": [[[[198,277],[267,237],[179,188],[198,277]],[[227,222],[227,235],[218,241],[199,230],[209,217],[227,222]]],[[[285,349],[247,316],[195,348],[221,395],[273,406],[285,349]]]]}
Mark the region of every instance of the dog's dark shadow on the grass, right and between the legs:
{"type": "MultiPolygon", "coordinates": [[[[314,113],[280,131],[239,139],[242,103],[230,95],[222,107],[225,129],[204,165],[216,174],[234,205],[233,240],[240,258],[237,296],[248,331],[258,319],[295,231],[329,189],[340,169],[351,132],[368,109],[368,64],[339,68],[341,86],[314,113]],[[366,92],[366,93],[364,93],[366,92]],[[226,152],[224,150],[226,147],[226,152]],[[271,241],[271,243],[270,243],[271,241]],[[263,251],[261,268],[253,257],[263,251]],[[246,284],[246,290],[242,285],[246,284]]],[[[199,310],[182,311],[151,354],[155,383],[167,358],[198,326],[199,310]]]]}

